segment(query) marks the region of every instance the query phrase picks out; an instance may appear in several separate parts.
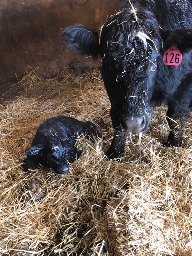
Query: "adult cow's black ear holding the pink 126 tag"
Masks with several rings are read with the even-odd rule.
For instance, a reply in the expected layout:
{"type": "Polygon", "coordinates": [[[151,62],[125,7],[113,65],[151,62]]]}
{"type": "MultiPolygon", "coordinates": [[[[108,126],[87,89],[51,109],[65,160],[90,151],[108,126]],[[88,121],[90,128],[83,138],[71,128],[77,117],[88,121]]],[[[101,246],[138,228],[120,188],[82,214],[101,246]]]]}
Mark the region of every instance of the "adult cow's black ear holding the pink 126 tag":
{"type": "Polygon", "coordinates": [[[163,49],[169,49],[173,44],[179,46],[182,52],[192,48],[192,30],[178,29],[175,31],[167,30],[161,33],[163,39],[163,49]]]}

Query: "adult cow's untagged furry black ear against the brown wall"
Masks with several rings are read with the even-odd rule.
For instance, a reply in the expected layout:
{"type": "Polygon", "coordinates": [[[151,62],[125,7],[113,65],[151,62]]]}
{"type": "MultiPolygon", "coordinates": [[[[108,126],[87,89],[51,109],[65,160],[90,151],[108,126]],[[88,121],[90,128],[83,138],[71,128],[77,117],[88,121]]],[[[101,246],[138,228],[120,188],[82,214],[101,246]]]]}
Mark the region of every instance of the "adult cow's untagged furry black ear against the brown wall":
{"type": "Polygon", "coordinates": [[[71,48],[82,55],[96,57],[99,54],[99,30],[83,25],[63,28],[61,36],[71,48]]]}

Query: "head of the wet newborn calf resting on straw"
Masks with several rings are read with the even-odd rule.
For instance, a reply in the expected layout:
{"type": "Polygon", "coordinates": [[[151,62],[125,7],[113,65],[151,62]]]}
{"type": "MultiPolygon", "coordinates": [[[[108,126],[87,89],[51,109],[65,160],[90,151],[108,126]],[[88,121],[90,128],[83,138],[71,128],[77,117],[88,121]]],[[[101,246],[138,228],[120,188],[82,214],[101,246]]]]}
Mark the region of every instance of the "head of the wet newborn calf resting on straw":
{"type": "Polygon", "coordinates": [[[70,138],[49,136],[46,141],[28,148],[25,152],[29,155],[40,154],[48,167],[53,168],[56,173],[63,174],[69,170],[68,162],[75,161],[82,152],[82,149],[77,149],[68,140],[70,138]]]}

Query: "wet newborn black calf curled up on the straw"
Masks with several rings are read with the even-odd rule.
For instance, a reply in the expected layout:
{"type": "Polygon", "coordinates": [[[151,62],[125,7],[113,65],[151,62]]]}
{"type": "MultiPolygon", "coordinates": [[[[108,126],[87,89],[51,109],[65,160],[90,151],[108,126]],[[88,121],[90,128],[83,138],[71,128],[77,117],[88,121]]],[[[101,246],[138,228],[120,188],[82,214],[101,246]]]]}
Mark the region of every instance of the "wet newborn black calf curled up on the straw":
{"type": "Polygon", "coordinates": [[[73,117],[58,116],[47,119],[41,124],[36,135],[25,152],[24,169],[37,169],[39,165],[51,167],[56,173],[68,172],[68,163],[79,158],[82,149],[76,148],[78,137],[85,133],[86,138],[92,135],[102,139],[97,126],[92,122],[81,122],[73,117]]]}

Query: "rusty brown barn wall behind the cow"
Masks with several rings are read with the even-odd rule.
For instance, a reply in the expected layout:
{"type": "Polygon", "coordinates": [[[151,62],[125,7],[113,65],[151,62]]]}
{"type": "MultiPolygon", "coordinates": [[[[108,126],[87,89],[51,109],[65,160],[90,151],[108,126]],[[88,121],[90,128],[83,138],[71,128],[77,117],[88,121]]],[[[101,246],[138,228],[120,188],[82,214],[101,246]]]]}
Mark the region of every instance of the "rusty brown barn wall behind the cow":
{"type": "Polygon", "coordinates": [[[1,0],[0,81],[15,80],[39,67],[38,76],[52,77],[70,62],[87,62],[60,39],[61,28],[81,23],[100,28],[121,0],[1,0]]]}

